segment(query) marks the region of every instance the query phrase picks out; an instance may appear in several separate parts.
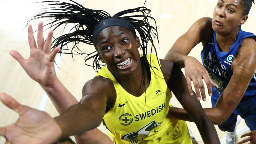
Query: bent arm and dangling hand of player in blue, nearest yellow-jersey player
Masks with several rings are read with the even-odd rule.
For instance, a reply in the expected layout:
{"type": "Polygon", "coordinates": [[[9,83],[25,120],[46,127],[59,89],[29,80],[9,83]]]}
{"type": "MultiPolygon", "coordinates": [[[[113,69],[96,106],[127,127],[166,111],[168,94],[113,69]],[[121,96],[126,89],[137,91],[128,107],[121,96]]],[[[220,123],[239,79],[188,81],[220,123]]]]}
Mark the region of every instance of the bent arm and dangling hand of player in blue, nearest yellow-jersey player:
{"type": "Polygon", "coordinates": [[[202,79],[204,79],[209,95],[212,95],[212,82],[207,70],[194,57],[188,56],[190,51],[200,42],[202,45],[208,44],[210,33],[212,32],[211,18],[203,17],[197,20],[189,30],[180,36],[173,44],[165,56],[165,60],[170,60],[179,67],[185,67],[185,76],[187,86],[191,95],[193,95],[191,81],[193,81],[198,100],[201,100],[200,91],[203,100],[206,100],[205,89],[202,79]]]}

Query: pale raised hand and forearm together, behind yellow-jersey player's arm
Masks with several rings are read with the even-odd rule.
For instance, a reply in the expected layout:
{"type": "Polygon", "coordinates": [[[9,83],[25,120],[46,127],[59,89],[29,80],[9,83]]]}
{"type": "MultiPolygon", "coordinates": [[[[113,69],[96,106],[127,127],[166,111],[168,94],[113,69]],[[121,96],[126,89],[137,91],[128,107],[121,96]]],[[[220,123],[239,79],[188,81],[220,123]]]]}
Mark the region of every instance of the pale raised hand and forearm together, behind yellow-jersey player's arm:
{"type": "Polygon", "coordinates": [[[10,54],[20,63],[27,74],[42,86],[58,112],[61,114],[71,105],[78,103],[78,101],[63,86],[56,76],[54,59],[59,47],[56,47],[51,52],[53,31],[51,30],[49,32],[46,41],[44,41],[43,23],[40,22],[38,24],[37,32],[36,43],[32,26],[28,26],[28,42],[30,46],[30,56],[28,59],[24,59],[15,50],[10,51],[10,54]]]}

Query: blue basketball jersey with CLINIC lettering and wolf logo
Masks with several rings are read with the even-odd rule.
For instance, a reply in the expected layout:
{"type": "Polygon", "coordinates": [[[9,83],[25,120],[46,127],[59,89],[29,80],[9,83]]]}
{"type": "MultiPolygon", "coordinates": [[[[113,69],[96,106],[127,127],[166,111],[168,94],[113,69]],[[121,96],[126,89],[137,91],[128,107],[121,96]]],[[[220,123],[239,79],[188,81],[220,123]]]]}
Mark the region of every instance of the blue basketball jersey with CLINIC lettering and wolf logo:
{"type": "MultiPolygon", "coordinates": [[[[231,64],[234,55],[239,48],[243,39],[252,37],[256,41],[256,36],[253,33],[239,30],[236,41],[229,48],[228,52],[219,51],[216,41],[216,32],[211,33],[209,43],[203,47],[201,58],[203,66],[207,69],[211,79],[215,83],[213,86],[213,96],[220,96],[226,88],[233,74],[231,64]]],[[[255,67],[255,66],[254,66],[255,67]]],[[[239,82],[238,82],[239,83],[239,82]]],[[[256,75],[252,77],[250,84],[242,98],[242,100],[256,96],[256,75]]]]}

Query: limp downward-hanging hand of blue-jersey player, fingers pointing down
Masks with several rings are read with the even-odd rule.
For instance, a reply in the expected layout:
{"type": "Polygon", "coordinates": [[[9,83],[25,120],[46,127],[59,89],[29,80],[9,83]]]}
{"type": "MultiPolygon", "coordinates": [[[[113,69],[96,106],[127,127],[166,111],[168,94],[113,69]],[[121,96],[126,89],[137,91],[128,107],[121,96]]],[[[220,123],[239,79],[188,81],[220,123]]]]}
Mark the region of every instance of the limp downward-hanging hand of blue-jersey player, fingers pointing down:
{"type": "Polygon", "coordinates": [[[185,61],[185,76],[187,79],[188,90],[191,95],[194,94],[191,87],[191,81],[193,81],[196,97],[198,100],[201,100],[201,91],[202,99],[203,101],[206,101],[203,79],[207,85],[208,94],[210,96],[212,95],[212,86],[214,86],[214,82],[211,80],[208,71],[194,57],[188,56],[185,61]]]}

